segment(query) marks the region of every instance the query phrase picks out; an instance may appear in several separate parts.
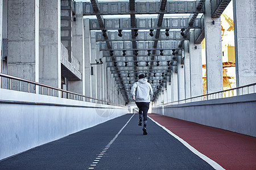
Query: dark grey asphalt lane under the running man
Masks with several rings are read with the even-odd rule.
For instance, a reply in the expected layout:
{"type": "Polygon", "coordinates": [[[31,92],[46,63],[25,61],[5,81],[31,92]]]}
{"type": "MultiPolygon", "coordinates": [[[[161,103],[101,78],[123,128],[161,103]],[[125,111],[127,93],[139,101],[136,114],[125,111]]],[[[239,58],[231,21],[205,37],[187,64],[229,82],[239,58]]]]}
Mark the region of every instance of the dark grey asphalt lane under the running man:
{"type": "Polygon", "coordinates": [[[32,148],[0,162],[0,169],[213,169],[148,119],[143,135],[138,114],[32,148]]]}

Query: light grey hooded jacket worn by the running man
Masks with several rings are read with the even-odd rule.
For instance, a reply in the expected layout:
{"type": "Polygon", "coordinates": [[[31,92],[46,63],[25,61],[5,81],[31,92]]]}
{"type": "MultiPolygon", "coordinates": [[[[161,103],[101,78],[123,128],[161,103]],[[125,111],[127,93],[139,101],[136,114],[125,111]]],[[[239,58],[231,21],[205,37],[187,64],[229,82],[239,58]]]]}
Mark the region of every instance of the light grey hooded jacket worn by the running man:
{"type": "Polygon", "coordinates": [[[150,95],[153,95],[151,84],[146,78],[139,79],[133,84],[131,95],[135,97],[135,102],[150,102],[150,95]]]}

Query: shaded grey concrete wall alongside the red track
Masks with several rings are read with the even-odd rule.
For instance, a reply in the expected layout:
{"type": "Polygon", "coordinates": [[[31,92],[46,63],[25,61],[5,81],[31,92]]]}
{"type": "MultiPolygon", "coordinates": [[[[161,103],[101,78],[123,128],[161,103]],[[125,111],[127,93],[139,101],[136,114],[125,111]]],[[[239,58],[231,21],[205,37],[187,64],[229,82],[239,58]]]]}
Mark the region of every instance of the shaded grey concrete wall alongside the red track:
{"type": "Polygon", "coordinates": [[[154,107],[152,113],[256,137],[256,94],[154,107]]]}

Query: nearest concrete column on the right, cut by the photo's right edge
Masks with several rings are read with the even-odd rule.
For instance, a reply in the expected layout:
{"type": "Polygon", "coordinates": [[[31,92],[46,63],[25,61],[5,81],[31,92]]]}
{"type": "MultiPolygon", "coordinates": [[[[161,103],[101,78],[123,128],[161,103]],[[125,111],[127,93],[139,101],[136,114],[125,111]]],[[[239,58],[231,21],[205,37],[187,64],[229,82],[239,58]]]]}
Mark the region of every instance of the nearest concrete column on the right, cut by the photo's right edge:
{"type": "Polygon", "coordinates": [[[233,0],[237,87],[256,80],[256,2],[233,0]]]}

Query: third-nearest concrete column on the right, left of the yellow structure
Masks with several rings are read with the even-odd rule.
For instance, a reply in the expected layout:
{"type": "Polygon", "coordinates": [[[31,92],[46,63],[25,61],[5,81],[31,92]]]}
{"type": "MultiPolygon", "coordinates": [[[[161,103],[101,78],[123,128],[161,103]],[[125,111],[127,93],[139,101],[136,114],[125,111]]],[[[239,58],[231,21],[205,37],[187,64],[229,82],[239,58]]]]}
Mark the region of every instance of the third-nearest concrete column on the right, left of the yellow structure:
{"type": "Polygon", "coordinates": [[[189,31],[191,97],[203,95],[201,44],[194,44],[194,31],[189,31]]]}

